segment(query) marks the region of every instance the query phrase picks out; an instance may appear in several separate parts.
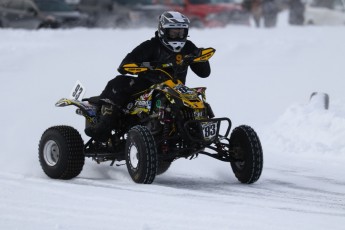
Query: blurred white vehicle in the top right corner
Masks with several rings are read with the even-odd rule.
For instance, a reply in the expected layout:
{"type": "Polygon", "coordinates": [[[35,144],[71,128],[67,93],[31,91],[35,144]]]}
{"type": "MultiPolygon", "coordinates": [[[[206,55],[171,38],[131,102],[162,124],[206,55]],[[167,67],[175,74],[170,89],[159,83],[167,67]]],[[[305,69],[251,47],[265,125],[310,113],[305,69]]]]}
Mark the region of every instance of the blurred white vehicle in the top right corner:
{"type": "Polygon", "coordinates": [[[308,1],[304,17],[307,25],[345,25],[345,1],[308,1]]]}

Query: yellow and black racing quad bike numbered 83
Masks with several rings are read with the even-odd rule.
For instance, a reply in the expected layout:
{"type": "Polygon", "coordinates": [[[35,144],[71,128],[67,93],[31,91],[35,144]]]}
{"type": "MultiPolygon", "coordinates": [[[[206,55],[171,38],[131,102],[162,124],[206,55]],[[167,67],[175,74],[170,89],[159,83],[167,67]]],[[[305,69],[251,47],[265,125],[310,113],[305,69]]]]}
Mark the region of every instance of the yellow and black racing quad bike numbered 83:
{"type": "MultiPolygon", "coordinates": [[[[202,49],[200,55],[181,60],[204,62],[215,49],[202,49]]],[[[51,178],[71,179],[80,174],[85,157],[97,163],[125,161],[132,180],[150,184],[166,172],[174,160],[193,159],[199,154],[229,162],[241,183],[256,182],[262,172],[263,152],[256,132],[247,125],[232,130],[231,120],[215,118],[206,102],[206,88],[189,88],[165,68],[178,71],[181,63],[126,64],[123,68],[133,75],[158,71],[165,81],[154,84],[133,99],[123,110],[104,141],[90,138],[84,144],[73,127],[59,125],[48,128],[39,142],[39,161],[51,178]]],[[[78,81],[70,98],[62,98],[58,107],[76,106],[76,113],[86,119],[86,126],[98,122],[99,97],[81,99],[85,88],[78,81]]]]}

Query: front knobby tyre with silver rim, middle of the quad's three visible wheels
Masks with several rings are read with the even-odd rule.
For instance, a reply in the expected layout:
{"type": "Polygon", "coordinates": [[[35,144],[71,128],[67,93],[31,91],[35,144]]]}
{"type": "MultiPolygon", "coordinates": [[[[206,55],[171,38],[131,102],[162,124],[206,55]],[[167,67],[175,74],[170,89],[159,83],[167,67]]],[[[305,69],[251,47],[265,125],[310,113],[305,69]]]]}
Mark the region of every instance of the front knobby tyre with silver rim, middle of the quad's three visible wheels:
{"type": "Polygon", "coordinates": [[[157,148],[147,127],[137,125],[129,130],[125,153],[132,180],[139,184],[151,184],[157,174],[157,148]]]}

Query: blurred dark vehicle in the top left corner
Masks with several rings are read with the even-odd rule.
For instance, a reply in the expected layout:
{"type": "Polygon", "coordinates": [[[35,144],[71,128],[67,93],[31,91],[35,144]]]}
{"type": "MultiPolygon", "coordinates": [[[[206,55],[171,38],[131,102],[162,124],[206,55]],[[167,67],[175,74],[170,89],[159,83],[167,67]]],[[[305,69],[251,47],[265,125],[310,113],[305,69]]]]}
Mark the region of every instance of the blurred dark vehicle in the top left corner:
{"type": "Polygon", "coordinates": [[[43,14],[32,0],[0,0],[0,27],[40,29],[58,26],[58,21],[43,14]]]}

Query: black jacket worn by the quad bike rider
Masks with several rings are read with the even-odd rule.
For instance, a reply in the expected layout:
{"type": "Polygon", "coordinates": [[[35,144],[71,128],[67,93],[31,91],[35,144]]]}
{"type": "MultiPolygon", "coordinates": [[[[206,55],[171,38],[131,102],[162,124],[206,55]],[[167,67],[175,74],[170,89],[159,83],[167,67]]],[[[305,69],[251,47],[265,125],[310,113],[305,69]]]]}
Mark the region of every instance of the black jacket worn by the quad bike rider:
{"type": "MultiPolygon", "coordinates": [[[[193,42],[187,40],[186,44],[182,48],[180,53],[175,53],[168,48],[166,48],[159,40],[157,32],[155,33],[155,37],[141,43],[139,46],[133,49],[132,52],[127,54],[127,56],[123,59],[118,68],[118,71],[121,74],[125,74],[126,72],[121,68],[124,64],[128,63],[142,63],[142,62],[151,62],[151,63],[171,63],[176,62],[181,55],[190,55],[196,54],[199,52],[199,48],[197,48],[193,42]]],[[[198,75],[199,77],[206,78],[211,73],[211,68],[209,62],[201,62],[201,63],[193,63],[190,65],[192,71],[198,75]]],[[[165,69],[169,74],[173,75],[172,68],[165,69]]],[[[187,75],[188,67],[184,66],[181,67],[181,70],[178,71],[176,74],[177,78],[181,80],[184,84],[186,83],[186,75],[187,75]]],[[[138,75],[139,78],[146,78],[147,80],[151,81],[152,83],[161,82],[163,79],[157,73],[141,73],[138,75]]]]}

